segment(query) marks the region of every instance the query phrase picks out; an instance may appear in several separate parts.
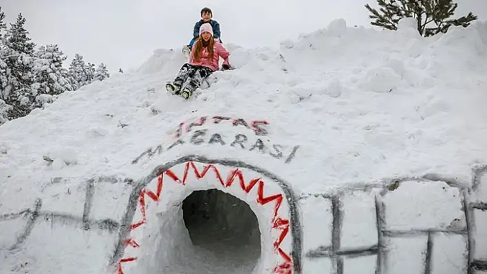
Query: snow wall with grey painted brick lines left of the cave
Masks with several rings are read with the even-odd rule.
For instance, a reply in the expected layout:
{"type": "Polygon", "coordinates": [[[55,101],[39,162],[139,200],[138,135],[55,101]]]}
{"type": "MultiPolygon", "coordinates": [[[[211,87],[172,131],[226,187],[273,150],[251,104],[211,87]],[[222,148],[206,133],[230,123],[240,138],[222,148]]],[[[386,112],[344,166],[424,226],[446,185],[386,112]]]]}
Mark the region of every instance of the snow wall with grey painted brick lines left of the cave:
{"type": "Polygon", "coordinates": [[[24,196],[3,204],[0,273],[102,273],[120,228],[117,203],[127,200],[131,183],[116,176],[54,178],[35,201],[24,196]]]}

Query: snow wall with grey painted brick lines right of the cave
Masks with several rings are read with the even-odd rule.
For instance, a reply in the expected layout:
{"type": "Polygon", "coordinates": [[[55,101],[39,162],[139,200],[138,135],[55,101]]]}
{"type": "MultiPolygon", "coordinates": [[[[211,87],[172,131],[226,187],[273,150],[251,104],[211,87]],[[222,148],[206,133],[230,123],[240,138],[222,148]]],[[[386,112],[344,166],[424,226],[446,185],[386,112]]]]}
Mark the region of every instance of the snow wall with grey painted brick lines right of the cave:
{"type": "Polygon", "coordinates": [[[303,273],[487,273],[487,165],[473,173],[472,189],[430,174],[301,196],[303,273]]]}

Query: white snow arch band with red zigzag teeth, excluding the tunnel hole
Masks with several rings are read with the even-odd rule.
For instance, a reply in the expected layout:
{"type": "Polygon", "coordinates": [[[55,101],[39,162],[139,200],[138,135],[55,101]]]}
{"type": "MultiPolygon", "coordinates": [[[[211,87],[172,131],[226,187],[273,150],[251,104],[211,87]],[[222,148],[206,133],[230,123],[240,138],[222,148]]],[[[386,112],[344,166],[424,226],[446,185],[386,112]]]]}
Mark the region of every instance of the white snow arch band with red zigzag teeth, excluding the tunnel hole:
{"type": "Polygon", "coordinates": [[[132,222],[127,225],[128,229],[121,231],[120,242],[112,260],[118,261],[119,274],[139,273],[140,269],[137,267],[143,268],[139,264],[133,264],[133,269],[130,264],[140,260],[141,254],[147,254],[152,250],[140,249],[147,245],[142,242],[148,242],[147,237],[150,233],[144,230],[151,229],[147,229],[147,226],[151,225],[151,222],[158,225],[155,218],[158,210],[164,211],[171,205],[180,204],[186,198],[186,194],[193,190],[209,188],[223,190],[246,201],[257,215],[263,250],[259,271],[301,273],[301,225],[295,207],[296,198],[288,184],[270,172],[241,161],[208,160],[204,157],[189,156],[155,168],[142,181],[140,187],[136,187],[132,192],[130,209],[125,218],[132,222]],[[142,188],[138,189],[140,187],[142,188]],[[178,196],[178,192],[186,194],[178,196]],[[136,200],[134,214],[133,201],[136,200]],[[160,205],[161,202],[166,204],[160,205]],[[151,207],[152,204],[154,206],[151,207]],[[150,209],[152,213],[149,214],[150,209]],[[120,258],[122,253],[123,256],[120,258]]]}

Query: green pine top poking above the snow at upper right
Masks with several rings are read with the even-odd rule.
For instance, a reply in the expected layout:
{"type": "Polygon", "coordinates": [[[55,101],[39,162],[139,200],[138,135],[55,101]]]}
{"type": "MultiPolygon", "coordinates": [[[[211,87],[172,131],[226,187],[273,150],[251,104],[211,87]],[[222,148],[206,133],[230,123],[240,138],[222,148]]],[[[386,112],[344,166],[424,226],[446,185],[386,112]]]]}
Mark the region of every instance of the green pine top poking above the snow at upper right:
{"type": "Polygon", "coordinates": [[[449,19],[455,14],[458,4],[453,0],[377,0],[379,11],[365,8],[371,12],[369,19],[374,19],[371,25],[397,30],[398,22],[404,17],[413,17],[418,22],[418,32],[421,36],[433,36],[440,32],[446,33],[452,26],[468,27],[477,16],[469,12],[467,16],[449,19]]]}

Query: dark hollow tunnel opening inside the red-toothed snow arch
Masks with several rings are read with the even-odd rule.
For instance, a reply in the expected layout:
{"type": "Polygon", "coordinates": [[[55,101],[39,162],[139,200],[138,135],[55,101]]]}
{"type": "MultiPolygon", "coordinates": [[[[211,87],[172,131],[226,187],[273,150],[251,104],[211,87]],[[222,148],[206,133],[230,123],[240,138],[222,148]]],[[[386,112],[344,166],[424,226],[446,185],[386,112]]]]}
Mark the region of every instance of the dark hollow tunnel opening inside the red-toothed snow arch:
{"type": "Polygon", "coordinates": [[[257,216],[239,198],[217,189],[195,190],[182,202],[182,217],[199,260],[199,273],[252,273],[259,264],[257,216]]]}

